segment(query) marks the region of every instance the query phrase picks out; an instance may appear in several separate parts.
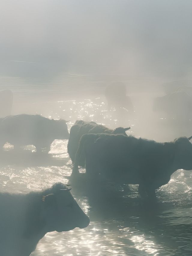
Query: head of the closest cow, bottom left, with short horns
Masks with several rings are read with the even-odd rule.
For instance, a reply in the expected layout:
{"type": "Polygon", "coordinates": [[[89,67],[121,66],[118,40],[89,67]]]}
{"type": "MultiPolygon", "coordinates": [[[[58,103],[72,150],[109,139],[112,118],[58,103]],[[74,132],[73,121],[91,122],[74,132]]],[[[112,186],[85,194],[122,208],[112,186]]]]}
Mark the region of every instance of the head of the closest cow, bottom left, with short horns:
{"type": "Polygon", "coordinates": [[[43,195],[41,218],[44,219],[46,232],[88,226],[90,220],[71,195],[70,189],[63,183],[55,183],[47,190],[49,194],[43,195]]]}

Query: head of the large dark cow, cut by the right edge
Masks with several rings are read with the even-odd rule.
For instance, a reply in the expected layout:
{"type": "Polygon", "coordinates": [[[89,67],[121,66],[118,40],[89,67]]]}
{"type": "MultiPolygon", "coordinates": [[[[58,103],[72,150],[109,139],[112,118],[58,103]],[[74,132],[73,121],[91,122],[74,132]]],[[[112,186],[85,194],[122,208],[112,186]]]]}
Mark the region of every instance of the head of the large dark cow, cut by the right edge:
{"type": "Polygon", "coordinates": [[[180,137],[174,140],[175,163],[177,169],[192,170],[192,144],[189,137],[180,137]]]}

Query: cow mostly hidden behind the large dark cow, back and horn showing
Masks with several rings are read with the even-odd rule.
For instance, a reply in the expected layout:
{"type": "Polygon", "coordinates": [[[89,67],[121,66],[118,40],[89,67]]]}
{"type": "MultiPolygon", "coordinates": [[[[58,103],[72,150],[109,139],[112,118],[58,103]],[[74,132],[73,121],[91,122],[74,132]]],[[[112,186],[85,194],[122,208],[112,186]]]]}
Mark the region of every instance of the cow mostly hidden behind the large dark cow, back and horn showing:
{"type": "MultiPolygon", "coordinates": [[[[79,147],[79,140],[83,134],[86,133],[109,133],[109,134],[124,134],[127,136],[125,131],[128,131],[131,127],[122,128],[118,127],[115,130],[109,129],[104,125],[98,125],[95,122],[85,122],[83,120],[77,120],[75,124],[70,129],[69,141],[67,145],[68,154],[72,160],[75,161],[75,154],[79,147]]],[[[84,166],[84,161],[82,165],[84,166]]]]}

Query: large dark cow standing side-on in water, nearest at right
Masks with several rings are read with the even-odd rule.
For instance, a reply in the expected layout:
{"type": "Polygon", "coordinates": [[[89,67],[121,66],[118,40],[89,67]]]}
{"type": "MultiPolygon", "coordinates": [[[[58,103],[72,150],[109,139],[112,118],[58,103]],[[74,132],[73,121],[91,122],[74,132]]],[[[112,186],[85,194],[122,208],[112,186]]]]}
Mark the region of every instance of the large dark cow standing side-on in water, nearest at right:
{"type": "Polygon", "coordinates": [[[84,134],[71,175],[78,176],[83,155],[88,181],[138,184],[142,197],[155,199],[155,190],[167,184],[176,170],[192,169],[191,138],[160,143],[121,134],[84,134]]]}

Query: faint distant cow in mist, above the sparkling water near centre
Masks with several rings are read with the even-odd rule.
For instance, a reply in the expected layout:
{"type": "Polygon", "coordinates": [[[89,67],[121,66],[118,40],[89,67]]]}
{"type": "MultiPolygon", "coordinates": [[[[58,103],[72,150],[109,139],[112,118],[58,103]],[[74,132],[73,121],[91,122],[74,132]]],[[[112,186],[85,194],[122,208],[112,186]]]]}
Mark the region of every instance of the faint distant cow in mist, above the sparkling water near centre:
{"type": "Polygon", "coordinates": [[[111,107],[124,107],[130,111],[133,110],[131,98],[126,96],[127,89],[124,83],[115,82],[107,86],[105,89],[105,97],[107,99],[108,109],[111,107]]]}

